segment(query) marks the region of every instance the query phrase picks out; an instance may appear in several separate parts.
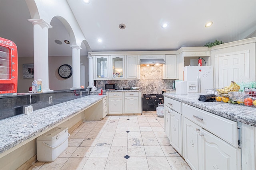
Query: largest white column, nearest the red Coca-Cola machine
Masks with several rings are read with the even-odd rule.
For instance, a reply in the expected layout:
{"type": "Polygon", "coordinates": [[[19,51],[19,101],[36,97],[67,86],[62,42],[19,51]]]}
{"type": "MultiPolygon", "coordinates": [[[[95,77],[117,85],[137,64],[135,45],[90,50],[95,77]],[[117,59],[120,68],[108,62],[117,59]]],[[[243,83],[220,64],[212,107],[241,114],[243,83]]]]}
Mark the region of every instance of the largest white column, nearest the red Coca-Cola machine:
{"type": "Polygon", "coordinates": [[[42,79],[43,92],[49,89],[48,29],[50,24],[42,19],[28,20],[34,25],[34,79],[42,79]]]}

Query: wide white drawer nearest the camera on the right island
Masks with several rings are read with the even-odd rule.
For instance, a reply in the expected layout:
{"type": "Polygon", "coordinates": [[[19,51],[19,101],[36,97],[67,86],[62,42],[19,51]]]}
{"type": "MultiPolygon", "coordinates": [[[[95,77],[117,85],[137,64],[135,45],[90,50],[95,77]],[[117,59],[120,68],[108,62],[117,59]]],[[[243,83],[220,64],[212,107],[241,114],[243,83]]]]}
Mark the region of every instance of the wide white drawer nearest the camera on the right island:
{"type": "Polygon", "coordinates": [[[235,121],[187,104],[182,104],[182,115],[234,147],[238,147],[237,123],[235,121]]]}

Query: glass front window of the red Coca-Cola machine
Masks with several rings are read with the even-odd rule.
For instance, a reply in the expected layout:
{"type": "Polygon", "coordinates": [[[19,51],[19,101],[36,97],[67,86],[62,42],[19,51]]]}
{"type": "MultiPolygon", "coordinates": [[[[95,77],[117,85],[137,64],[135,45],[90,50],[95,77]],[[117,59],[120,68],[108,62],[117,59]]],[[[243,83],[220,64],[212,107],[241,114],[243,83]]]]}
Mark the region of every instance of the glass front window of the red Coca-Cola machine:
{"type": "Polygon", "coordinates": [[[0,80],[11,79],[11,63],[9,49],[7,47],[0,47],[0,80]]]}

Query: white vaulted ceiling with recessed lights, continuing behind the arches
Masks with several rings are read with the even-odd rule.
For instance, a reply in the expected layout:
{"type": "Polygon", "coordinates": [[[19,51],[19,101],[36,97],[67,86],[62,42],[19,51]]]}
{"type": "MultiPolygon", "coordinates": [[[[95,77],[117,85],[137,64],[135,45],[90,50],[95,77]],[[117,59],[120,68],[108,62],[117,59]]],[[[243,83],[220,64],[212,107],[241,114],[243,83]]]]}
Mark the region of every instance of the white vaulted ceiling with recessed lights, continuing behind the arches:
{"type": "MultiPolygon", "coordinates": [[[[256,0],[67,0],[92,51],[156,51],[256,36],[256,0]],[[213,21],[209,28],[207,21],[213,21]],[[169,26],[161,28],[163,22],[169,26]],[[124,23],[125,29],[118,25],[124,23]],[[102,39],[99,43],[98,38],[102,39]]],[[[33,26],[25,0],[0,0],[0,37],[33,56],[33,26]]],[[[71,55],[62,23],[49,29],[49,56],[71,55]],[[62,41],[62,45],[54,40],[62,41]]],[[[82,45],[81,55],[87,55],[82,45]]]]}

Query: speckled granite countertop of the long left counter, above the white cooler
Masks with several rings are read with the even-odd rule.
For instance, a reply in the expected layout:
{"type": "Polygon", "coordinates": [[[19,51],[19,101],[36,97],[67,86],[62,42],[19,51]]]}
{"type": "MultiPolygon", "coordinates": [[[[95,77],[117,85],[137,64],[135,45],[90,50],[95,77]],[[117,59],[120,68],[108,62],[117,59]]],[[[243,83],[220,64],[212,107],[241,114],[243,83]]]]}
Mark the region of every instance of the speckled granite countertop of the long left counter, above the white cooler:
{"type": "Polygon", "coordinates": [[[90,95],[0,120],[0,154],[100,101],[90,95]]]}

